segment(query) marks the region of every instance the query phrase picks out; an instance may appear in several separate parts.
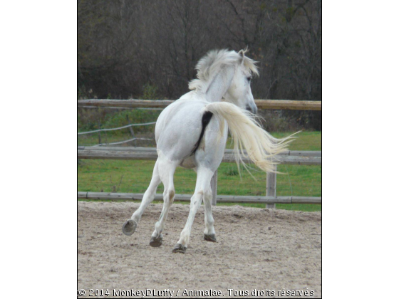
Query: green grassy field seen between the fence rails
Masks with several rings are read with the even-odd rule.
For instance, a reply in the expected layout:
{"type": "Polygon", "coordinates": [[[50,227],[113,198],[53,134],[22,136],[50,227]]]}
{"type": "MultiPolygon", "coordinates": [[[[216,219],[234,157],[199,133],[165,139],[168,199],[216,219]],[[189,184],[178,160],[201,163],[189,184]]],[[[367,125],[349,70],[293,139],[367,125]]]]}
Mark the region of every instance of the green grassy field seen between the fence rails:
{"type": "MultiPolygon", "coordinates": [[[[274,133],[284,137],[289,133],[274,133]]],[[[119,136],[118,140],[129,139],[119,136]]],[[[91,141],[91,140],[90,140],[91,141]]],[[[138,144],[140,146],[140,144],[138,144]]],[[[229,147],[229,144],[228,144],[229,147]]],[[[321,150],[321,132],[301,132],[290,150],[321,150]]],[[[78,164],[78,191],[144,193],[150,183],[155,161],[123,161],[85,159],[78,164]]],[[[252,165],[253,167],[253,165],[252,165]]],[[[321,166],[280,165],[277,176],[278,196],[321,196],[321,166]]],[[[217,193],[222,195],[266,195],[266,174],[252,170],[254,180],[246,171],[240,179],[237,165],[222,163],[218,170],[217,193]]],[[[196,175],[190,169],[177,168],[175,189],[178,194],[191,194],[196,175]]],[[[163,186],[157,190],[162,193],[163,186]]],[[[232,204],[227,204],[232,205],[232,204]]],[[[233,204],[235,205],[235,204],[233,204]]],[[[264,208],[264,204],[242,204],[264,208]]],[[[318,204],[277,204],[278,209],[321,211],[318,204]]]]}

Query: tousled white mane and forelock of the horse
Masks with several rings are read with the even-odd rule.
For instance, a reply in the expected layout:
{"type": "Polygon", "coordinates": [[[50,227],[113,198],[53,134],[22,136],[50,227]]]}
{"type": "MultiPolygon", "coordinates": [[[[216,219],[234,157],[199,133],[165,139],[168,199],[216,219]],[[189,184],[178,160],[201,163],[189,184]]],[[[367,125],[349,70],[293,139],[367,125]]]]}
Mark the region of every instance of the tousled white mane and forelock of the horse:
{"type": "MultiPolygon", "coordinates": [[[[246,53],[247,48],[242,51],[246,53]]],[[[224,50],[212,50],[207,53],[206,56],[202,57],[197,63],[195,69],[197,70],[197,79],[191,80],[188,87],[190,90],[206,90],[207,85],[212,81],[214,75],[219,73],[219,70],[224,65],[234,65],[235,63],[241,63],[242,56],[236,51],[224,50]]],[[[249,70],[250,73],[259,75],[256,61],[244,56],[244,67],[249,70]]]]}

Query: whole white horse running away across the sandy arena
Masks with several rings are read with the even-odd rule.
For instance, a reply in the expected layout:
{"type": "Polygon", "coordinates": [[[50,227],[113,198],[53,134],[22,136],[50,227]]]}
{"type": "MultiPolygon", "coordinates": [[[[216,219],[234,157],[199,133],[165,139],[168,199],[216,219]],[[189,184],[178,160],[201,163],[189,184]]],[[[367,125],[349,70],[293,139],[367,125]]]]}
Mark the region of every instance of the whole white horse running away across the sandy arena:
{"type": "Polygon", "coordinates": [[[254,119],[257,105],[250,83],[252,74],[258,75],[258,70],[255,61],[245,56],[245,52],[221,50],[207,53],[197,64],[197,79],[189,84],[192,91],[167,106],[158,117],[155,127],[158,159],[140,207],[123,224],[125,235],[131,236],[135,232],[143,211],[154,200],[162,182],[164,204],[150,246],[162,245],[162,231],[175,197],[173,176],[176,167],[181,166],[197,172],[197,184],[187,223],[172,252],[185,253],[202,200],[205,206],[204,240],[216,241],[210,181],[222,162],[228,129],[234,140],[237,164],[247,154],[262,170],[274,171],[274,163],[269,158],[286,150],[289,137],[282,140],[271,137],[254,119]]]}

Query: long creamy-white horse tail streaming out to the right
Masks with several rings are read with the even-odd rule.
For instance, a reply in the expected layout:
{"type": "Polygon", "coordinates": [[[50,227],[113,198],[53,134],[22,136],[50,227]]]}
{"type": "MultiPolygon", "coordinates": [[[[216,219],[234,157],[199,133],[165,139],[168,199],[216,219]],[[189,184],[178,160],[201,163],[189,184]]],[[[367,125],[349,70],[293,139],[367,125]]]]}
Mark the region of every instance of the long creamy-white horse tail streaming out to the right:
{"type": "Polygon", "coordinates": [[[286,146],[293,140],[292,135],[282,139],[274,138],[260,127],[255,115],[231,103],[210,103],[204,107],[204,111],[212,112],[217,117],[221,132],[224,132],[224,120],[227,121],[234,142],[237,166],[241,163],[245,167],[242,157],[249,157],[265,172],[276,172],[276,162],[272,162],[271,157],[287,150],[286,146]]]}

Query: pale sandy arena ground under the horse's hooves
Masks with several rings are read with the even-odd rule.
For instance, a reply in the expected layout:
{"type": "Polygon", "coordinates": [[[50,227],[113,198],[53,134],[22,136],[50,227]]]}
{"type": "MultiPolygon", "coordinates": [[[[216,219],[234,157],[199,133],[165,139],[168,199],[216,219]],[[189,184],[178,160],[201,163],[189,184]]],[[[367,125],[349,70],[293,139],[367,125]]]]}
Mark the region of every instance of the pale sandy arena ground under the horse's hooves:
{"type": "MultiPolygon", "coordinates": [[[[185,226],[189,205],[170,209],[163,245],[149,246],[162,204],[151,204],[133,236],[122,225],[139,204],[78,201],[78,290],[274,290],[264,298],[284,298],[279,290],[314,291],[321,298],[321,213],[254,209],[242,206],[213,208],[217,243],[203,241],[204,206],[192,226],[185,254],[172,253],[185,226]]],[[[177,290],[179,294],[177,295],[177,290]]],[[[155,293],[153,295],[157,295],[155,293]]],[[[138,293],[135,293],[138,295],[138,293]]],[[[182,296],[184,295],[184,296],[182,296]]],[[[236,293],[237,295],[237,293],[236,293]]],[[[289,298],[310,298],[299,295],[289,298]]],[[[125,297],[126,298],[126,297],[125,297]]],[[[128,298],[142,298],[138,297],[128,298]]],[[[160,297],[165,298],[165,297],[160,297]]]]}

